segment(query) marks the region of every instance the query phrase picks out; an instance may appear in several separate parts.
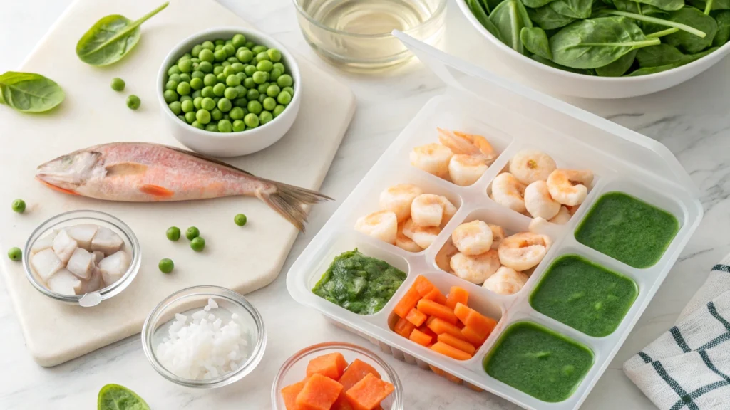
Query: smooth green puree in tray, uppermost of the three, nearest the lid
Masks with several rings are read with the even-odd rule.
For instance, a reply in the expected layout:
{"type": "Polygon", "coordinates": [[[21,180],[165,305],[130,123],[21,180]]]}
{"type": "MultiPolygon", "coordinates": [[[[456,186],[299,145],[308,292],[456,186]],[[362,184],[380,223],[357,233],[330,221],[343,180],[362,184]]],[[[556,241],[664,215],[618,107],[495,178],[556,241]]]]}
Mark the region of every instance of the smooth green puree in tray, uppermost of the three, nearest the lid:
{"type": "Polygon", "coordinates": [[[653,266],[679,231],[677,218],[626,193],[598,199],[575,239],[634,268],[653,266]]]}

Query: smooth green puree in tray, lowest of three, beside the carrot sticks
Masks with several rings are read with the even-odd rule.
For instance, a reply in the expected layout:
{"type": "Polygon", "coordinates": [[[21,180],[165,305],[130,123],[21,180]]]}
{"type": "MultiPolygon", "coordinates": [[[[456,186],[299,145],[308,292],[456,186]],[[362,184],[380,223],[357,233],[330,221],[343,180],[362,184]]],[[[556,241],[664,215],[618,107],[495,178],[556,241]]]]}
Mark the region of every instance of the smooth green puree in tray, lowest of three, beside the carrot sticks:
{"type": "Polygon", "coordinates": [[[593,365],[593,352],[534,322],[504,330],[484,360],[487,374],[542,401],[572,395],[593,365]]]}

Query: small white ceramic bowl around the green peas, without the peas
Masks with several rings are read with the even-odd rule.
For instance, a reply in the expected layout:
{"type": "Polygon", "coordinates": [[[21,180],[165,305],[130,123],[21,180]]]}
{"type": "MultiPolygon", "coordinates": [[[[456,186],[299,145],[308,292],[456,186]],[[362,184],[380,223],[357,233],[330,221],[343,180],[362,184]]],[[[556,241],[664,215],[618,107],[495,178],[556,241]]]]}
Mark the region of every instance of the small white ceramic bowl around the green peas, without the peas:
{"type": "Polygon", "coordinates": [[[261,151],[266,147],[274,144],[289,131],[293,125],[296,115],[299,114],[299,104],[301,104],[301,75],[299,74],[299,66],[293,55],[285,49],[276,40],[270,36],[266,36],[259,31],[251,30],[243,27],[219,27],[210,28],[193,34],[183,42],[173,47],[172,51],[167,55],[160,66],[157,74],[157,99],[160,102],[162,116],[172,136],[180,141],[185,147],[201,154],[212,155],[214,157],[237,157],[239,155],[248,155],[253,152],[261,151]],[[265,45],[269,48],[277,48],[281,51],[281,62],[286,66],[286,74],[291,75],[294,80],[294,95],[291,103],[286,107],[274,120],[264,125],[258,126],[248,131],[240,131],[233,133],[217,133],[204,131],[194,128],[192,125],[180,120],[167,107],[163,92],[167,82],[167,70],[173,65],[178,58],[185,53],[189,53],[193,46],[200,44],[206,40],[213,41],[215,39],[230,39],[234,34],[243,34],[247,40],[251,40],[256,44],[265,45]]]}

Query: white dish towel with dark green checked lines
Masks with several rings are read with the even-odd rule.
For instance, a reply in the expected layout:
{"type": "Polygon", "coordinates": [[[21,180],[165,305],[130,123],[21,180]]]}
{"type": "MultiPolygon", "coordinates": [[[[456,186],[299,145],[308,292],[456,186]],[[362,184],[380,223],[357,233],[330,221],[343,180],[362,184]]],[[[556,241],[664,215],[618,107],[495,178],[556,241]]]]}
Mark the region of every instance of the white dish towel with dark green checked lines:
{"type": "Polygon", "coordinates": [[[730,255],[623,371],[661,410],[730,409],[730,255]]]}

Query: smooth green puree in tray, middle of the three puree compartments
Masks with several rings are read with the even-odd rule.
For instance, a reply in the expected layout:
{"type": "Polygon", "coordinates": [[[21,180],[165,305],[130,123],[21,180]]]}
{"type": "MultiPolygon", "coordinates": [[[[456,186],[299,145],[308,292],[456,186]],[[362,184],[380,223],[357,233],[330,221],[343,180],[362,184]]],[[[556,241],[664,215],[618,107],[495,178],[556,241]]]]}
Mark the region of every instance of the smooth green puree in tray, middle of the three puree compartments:
{"type": "Polygon", "coordinates": [[[577,255],[558,258],[530,297],[545,316],[594,337],[613,333],[634,304],[633,280],[577,255]]]}

